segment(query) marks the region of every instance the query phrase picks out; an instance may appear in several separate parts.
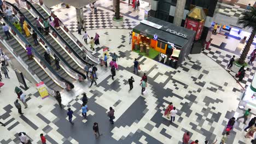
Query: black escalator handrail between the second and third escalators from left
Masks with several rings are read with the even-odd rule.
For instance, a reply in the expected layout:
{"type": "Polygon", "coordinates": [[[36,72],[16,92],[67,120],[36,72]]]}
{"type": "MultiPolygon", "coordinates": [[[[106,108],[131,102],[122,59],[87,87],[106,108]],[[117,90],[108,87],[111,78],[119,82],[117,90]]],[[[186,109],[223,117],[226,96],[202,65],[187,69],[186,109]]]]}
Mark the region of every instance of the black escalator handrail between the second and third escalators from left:
{"type": "Polygon", "coordinates": [[[75,73],[77,73],[77,74],[83,76],[84,79],[87,78],[85,74],[83,74],[83,73],[81,73],[80,71],[78,71],[78,70],[72,68],[71,65],[69,65],[69,64],[67,63],[67,61],[59,54],[59,52],[57,52],[57,51],[53,48],[53,46],[51,46],[51,44],[48,42],[48,40],[46,40],[46,39],[44,38],[44,36],[43,36],[40,32],[38,32],[38,29],[35,28],[35,27],[32,25],[32,23],[27,19],[27,17],[26,17],[23,13],[21,13],[21,11],[20,11],[19,8],[17,8],[15,5],[13,5],[13,4],[9,3],[9,2],[6,2],[6,1],[4,1],[4,2],[7,3],[7,4],[9,4],[9,5],[11,5],[11,7],[13,7],[18,13],[22,14],[22,15],[25,17],[25,20],[27,21],[28,25],[31,26],[31,28],[39,35],[40,38],[42,38],[42,40],[50,47],[50,49],[54,51],[55,55],[56,55],[57,57],[59,57],[60,60],[61,60],[69,69],[71,69],[71,70],[75,71],[75,73]]]}

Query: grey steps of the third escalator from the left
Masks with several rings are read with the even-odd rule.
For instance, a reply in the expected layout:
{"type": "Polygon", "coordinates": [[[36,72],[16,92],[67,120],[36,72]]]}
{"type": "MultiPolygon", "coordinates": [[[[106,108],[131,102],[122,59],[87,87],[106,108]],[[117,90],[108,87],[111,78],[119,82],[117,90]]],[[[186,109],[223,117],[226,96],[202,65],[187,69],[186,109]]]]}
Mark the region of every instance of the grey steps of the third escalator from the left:
{"type": "MultiPolygon", "coordinates": [[[[36,21],[34,20],[34,17],[30,14],[30,12],[28,12],[26,9],[21,8],[20,9],[21,13],[24,14],[24,16],[30,20],[30,22],[32,23],[32,25],[36,26],[36,21]]],[[[53,47],[53,49],[55,49],[57,51],[57,53],[59,53],[59,55],[65,59],[65,61],[75,70],[78,70],[79,73],[83,73],[83,69],[79,67],[79,65],[77,63],[75,63],[75,61],[71,58],[71,56],[69,56],[67,54],[67,52],[65,50],[62,49],[62,47],[60,46],[60,44],[58,44],[51,36],[50,34],[48,35],[43,35],[43,37],[50,43],[50,45],[53,47]]],[[[86,77],[85,77],[86,79],[86,77]]]]}

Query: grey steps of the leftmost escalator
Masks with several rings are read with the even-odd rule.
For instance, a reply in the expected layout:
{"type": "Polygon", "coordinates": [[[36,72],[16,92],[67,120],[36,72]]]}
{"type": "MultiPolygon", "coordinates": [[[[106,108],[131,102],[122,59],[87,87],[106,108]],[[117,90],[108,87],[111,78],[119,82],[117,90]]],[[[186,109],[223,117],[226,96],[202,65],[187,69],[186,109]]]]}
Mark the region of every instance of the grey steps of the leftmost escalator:
{"type": "MultiPolygon", "coordinates": [[[[2,27],[2,23],[0,24],[0,27],[2,27]]],[[[2,28],[0,28],[0,35],[5,38],[5,34],[2,28]]],[[[18,40],[12,38],[11,40],[8,40],[7,43],[14,49],[14,52],[19,55],[20,58],[30,67],[34,74],[36,74],[37,77],[39,77],[39,79],[45,83],[47,87],[53,89],[54,91],[62,91],[63,88],[57,85],[51,79],[51,77],[45,73],[39,64],[34,61],[34,59],[32,59],[32,61],[28,61],[26,50],[21,46],[18,40]]]]}

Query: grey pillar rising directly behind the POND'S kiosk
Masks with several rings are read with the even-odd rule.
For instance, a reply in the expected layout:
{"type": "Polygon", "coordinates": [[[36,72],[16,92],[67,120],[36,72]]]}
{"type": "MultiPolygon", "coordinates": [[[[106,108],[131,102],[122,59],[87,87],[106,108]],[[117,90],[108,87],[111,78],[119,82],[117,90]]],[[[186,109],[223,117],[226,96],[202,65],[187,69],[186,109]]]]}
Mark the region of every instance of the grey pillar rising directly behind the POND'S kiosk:
{"type": "Polygon", "coordinates": [[[186,4],[186,0],[178,0],[177,1],[174,20],[173,20],[173,24],[176,26],[181,26],[184,9],[185,9],[185,4],[186,4]]]}

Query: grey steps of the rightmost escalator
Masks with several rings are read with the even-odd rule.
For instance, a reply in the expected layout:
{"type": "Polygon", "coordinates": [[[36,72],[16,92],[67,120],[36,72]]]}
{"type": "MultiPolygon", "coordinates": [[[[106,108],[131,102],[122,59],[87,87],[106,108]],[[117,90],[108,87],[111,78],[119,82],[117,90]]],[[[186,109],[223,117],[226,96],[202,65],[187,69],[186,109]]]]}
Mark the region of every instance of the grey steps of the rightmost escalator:
{"type": "MultiPolygon", "coordinates": [[[[43,18],[48,18],[49,15],[44,11],[42,7],[40,7],[38,4],[33,4],[34,8],[38,10],[38,12],[43,16],[43,18]]],[[[82,57],[83,51],[78,47],[77,44],[74,43],[74,41],[68,37],[68,35],[64,32],[63,29],[56,29],[56,31],[61,35],[61,37],[69,44],[69,46],[72,47],[72,49],[80,56],[82,57]]],[[[86,59],[86,62],[90,64],[96,64],[95,62],[91,61],[91,59],[86,59]]]]}

